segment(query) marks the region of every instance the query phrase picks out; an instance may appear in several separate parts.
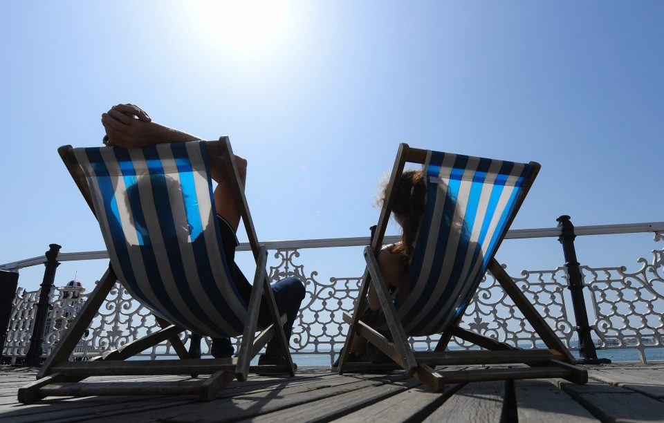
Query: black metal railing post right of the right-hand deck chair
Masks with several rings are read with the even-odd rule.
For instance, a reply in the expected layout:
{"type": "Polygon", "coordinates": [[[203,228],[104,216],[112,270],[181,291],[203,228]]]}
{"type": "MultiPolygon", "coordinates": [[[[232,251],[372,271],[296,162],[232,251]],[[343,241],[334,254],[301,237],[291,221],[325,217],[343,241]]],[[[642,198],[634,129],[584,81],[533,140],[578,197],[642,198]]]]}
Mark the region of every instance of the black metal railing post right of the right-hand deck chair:
{"type": "Polygon", "coordinates": [[[591,329],[588,323],[588,312],[586,302],[583,296],[583,281],[579,262],[576,259],[576,250],[574,248],[574,225],[569,220],[569,216],[560,216],[557,219],[558,227],[561,227],[558,241],[562,244],[562,252],[565,257],[565,267],[567,269],[568,289],[572,297],[572,306],[574,319],[576,320],[576,332],[579,336],[579,356],[580,364],[608,364],[609,359],[598,359],[595,343],[591,337],[591,329]]]}

